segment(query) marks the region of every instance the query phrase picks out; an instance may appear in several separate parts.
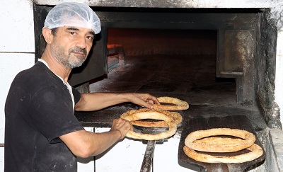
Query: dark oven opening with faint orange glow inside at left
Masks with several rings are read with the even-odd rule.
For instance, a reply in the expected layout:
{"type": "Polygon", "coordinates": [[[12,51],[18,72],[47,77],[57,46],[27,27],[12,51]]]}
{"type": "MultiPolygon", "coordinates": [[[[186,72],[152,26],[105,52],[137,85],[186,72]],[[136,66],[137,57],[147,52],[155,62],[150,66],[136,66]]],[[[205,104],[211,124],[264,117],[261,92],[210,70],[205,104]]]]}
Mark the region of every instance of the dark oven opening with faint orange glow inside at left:
{"type": "Polygon", "coordinates": [[[216,77],[217,30],[108,29],[108,74],[91,92],[142,92],[192,104],[236,104],[236,81],[216,77]]]}

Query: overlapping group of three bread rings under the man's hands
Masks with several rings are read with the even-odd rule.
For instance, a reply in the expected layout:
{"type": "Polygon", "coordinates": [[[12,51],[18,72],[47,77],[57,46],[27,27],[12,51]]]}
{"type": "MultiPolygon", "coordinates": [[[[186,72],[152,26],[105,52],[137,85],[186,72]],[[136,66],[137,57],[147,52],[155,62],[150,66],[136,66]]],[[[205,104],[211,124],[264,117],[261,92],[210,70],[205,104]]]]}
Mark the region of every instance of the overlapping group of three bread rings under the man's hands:
{"type": "Polygon", "coordinates": [[[134,131],[129,131],[127,137],[133,139],[145,139],[145,140],[159,140],[166,139],[173,136],[177,131],[177,125],[179,125],[183,118],[180,113],[169,112],[168,110],[186,110],[189,108],[189,104],[185,101],[181,101],[178,98],[160,97],[158,98],[160,103],[168,103],[173,105],[156,105],[154,109],[141,108],[139,110],[129,110],[123,113],[120,117],[125,120],[129,120],[132,125],[141,127],[168,127],[166,132],[158,134],[143,134],[134,131]],[[143,121],[143,120],[158,120],[158,121],[143,121]]]}

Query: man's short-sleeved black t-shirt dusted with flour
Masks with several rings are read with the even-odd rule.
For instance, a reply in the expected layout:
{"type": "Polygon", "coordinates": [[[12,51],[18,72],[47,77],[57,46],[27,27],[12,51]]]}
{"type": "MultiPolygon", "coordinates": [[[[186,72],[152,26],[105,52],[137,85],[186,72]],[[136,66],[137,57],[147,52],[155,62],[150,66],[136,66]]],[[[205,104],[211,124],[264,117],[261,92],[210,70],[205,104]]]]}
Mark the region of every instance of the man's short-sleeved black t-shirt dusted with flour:
{"type": "MultiPolygon", "coordinates": [[[[72,88],[75,103],[81,95],[72,88]]],[[[84,130],[66,85],[42,62],[21,71],[5,104],[4,171],[77,171],[76,156],[59,139],[84,130]]]]}

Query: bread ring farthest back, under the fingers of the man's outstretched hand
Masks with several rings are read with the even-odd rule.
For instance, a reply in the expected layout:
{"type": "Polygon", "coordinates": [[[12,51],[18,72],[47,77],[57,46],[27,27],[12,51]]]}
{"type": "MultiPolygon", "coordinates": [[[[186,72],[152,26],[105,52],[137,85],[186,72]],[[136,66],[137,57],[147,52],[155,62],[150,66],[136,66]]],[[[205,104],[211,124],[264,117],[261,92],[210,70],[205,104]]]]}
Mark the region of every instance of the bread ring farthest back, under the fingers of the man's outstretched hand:
{"type": "Polygon", "coordinates": [[[171,97],[159,97],[157,100],[160,103],[169,103],[173,105],[157,105],[154,104],[154,109],[161,109],[161,110],[187,110],[189,108],[189,104],[185,101],[181,101],[178,98],[171,98],[171,97]]]}

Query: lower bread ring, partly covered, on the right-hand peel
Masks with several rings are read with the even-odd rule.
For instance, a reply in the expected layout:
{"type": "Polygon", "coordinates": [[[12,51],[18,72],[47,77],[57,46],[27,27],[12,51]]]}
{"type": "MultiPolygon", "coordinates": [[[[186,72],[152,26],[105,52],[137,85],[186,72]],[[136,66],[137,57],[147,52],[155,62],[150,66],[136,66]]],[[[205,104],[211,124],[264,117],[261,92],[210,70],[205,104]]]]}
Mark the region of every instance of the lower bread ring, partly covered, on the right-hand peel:
{"type": "MultiPolygon", "coordinates": [[[[253,161],[258,157],[262,156],[263,151],[258,144],[253,144],[251,147],[247,148],[250,152],[246,154],[240,154],[236,156],[212,156],[209,154],[197,153],[197,151],[190,149],[189,147],[183,147],[183,150],[187,156],[195,161],[205,162],[205,163],[226,163],[226,164],[239,164],[243,162],[253,161]]],[[[225,153],[223,153],[225,154],[225,153]]]]}

